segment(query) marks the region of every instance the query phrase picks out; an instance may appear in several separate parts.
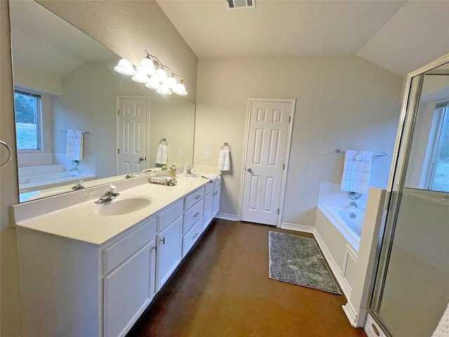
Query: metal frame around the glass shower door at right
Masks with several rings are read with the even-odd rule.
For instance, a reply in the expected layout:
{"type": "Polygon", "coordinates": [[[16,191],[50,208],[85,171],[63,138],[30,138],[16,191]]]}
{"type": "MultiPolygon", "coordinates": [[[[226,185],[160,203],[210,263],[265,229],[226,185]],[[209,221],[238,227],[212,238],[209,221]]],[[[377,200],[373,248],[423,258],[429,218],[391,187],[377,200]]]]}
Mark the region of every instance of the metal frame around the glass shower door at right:
{"type": "Polygon", "coordinates": [[[424,73],[434,69],[435,67],[439,67],[445,63],[449,62],[449,53],[441,56],[441,58],[437,58],[436,60],[430,62],[424,67],[421,67],[414,72],[410,72],[410,74],[406,77],[406,82],[404,86],[403,100],[401,105],[401,114],[399,117],[398,123],[398,133],[396,134],[396,142],[394,145],[394,152],[391,161],[391,168],[389,173],[389,181],[387,187],[387,195],[384,201],[383,214],[382,214],[382,223],[380,224],[379,237],[377,241],[376,253],[375,253],[375,263],[373,267],[373,279],[371,279],[369,296],[368,296],[368,315],[372,317],[372,319],[377,323],[378,326],[382,329],[382,333],[385,336],[391,337],[391,334],[384,328],[382,321],[377,317],[377,314],[371,309],[371,304],[373,303],[373,299],[375,298],[375,284],[377,279],[382,278],[382,287],[380,289],[380,293],[383,291],[383,285],[385,278],[387,276],[387,266],[389,264],[389,257],[391,253],[391,244],[394,238],[394,227],[396,226],[396,218],[398,216],[398,211],[400,209],[400,202],[396,203],[394,197],[398,197],[398,194],[394,192],[402,191],[403,185],[405,182],[404,171],[407,169],[408,164],[408,155],[410,154],[411,147],[411,139],[413,137],[413,131],[415,127],[415,119],[417,117],[417,107],[419,105],[419,100],[421,97],[421,89],[422,82],[424,79],[424,73]],[[413,92],[411,89],[412,80],[417,77],[417,91],[413,92]],[[413,94],[413,97],[410,95],[413,94]],[[404,147],[404,150],[402,148],[404,147]],[[402,150],[402,151],[401,151],[402,150]],[[402,153],[401,153],[402,152],[402,153]],[[399,154],[403,154],[399,158],[399,154]],[[398,177],[398,178],[396,178],[398,177]],[[395,179],[396,178],[396,179],[395,179]],[[395,186],[396,185],[396,186],[395,186]],[[390,220],[392,219],[392,220],[390,220]],[[387,227],[389,223],[392,223],[390,227],[387,227]],[[382,266],[382,270],[378,273],[380,268],[380,258],[382,253],[382,244],[384,242],[384,238],[389,237],[389,249],[387,250],[387,257],[384,259],[382,266]]]}

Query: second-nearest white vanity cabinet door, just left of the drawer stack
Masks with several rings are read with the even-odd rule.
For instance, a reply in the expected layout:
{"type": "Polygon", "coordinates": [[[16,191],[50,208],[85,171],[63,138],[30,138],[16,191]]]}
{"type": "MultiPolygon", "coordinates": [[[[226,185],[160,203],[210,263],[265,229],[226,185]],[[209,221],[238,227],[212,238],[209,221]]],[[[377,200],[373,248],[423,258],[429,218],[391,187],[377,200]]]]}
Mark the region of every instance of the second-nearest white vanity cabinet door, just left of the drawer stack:
{"type": "Polygon", "coordinates": [[[156,289],[166,283],[181,260],[182,217],[156,235],[156,289]]]}

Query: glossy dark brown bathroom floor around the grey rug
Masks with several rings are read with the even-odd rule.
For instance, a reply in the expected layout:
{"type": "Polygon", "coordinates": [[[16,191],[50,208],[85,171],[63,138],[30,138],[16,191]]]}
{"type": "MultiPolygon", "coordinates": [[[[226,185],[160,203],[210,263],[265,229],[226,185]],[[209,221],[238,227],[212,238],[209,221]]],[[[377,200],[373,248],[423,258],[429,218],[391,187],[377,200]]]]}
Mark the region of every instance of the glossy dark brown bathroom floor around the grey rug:
{"type": "Polygon", "coordinates": [[[311,236],[214,220],[127,336],[366,336],[344,296],[269,279],[269,230],[311,236]]]}

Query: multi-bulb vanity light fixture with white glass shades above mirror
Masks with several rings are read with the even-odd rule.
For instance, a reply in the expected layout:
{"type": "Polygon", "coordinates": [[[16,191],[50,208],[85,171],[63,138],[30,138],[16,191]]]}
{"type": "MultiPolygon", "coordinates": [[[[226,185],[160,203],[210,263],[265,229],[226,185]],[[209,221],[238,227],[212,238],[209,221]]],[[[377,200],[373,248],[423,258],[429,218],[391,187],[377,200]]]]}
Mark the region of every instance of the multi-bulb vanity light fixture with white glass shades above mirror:
{"type": "Polygon", "coordinates": [[[181,77],[175,74],[170,67],[163,65],[154,55],[150,55],[145,50],[147,56],[140,61],[140,65],[133,67],[133,64],[126,59],[121,59],[114,67],[120,74],[133,76],[131,79],[138,83],[144,83],[147,88],[155,89],[161,95],[170,95],[172,92],[177,95],[187,95],[181,77]]]}

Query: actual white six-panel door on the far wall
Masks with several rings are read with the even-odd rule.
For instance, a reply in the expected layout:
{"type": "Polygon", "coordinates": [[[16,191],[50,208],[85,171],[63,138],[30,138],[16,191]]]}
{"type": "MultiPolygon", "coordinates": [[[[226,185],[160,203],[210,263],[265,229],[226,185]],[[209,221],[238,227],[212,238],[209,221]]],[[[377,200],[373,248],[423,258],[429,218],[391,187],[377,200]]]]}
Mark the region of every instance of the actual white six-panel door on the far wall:
{"type": "Polygon", "coordinates": [[[278,225],[295,100],[250,99],[241,220],[278,225]]]}

